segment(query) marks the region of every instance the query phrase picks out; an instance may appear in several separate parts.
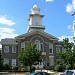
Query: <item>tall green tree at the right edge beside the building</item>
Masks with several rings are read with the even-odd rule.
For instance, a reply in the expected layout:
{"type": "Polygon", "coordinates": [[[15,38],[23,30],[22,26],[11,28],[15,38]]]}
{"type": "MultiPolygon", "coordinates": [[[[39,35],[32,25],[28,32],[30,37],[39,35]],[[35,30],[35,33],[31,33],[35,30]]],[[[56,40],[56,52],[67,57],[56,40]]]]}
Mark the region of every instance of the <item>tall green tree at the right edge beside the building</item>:
{"type": "Polygon", "coordinates": [[[71,68],[73,69],[73,65],[75,62],[75,46],[72,42],[69,42],[68,38],[63,39],[62,46],[65,51],[60,51],[57,54],[64,61],[65,64],[70,64],[71,68]]]}

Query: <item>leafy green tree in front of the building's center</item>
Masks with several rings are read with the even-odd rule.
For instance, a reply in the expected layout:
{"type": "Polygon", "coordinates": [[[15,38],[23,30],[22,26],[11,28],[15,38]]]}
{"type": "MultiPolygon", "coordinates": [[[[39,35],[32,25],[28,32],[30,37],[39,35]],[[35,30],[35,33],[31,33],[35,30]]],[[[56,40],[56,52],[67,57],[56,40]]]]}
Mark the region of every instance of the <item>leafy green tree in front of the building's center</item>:
{"type": "Polygon", "coordinates": [[[25,47],[25,50],[21,51],[18,59],[20,63],[22,63],[24,66],[30,66],[30,72],[31,72],[31,67],[33,64],[36,62],[40,61],[41,57],[41,52],[36,49],[35,44],[28,44],[25,47]]]}

